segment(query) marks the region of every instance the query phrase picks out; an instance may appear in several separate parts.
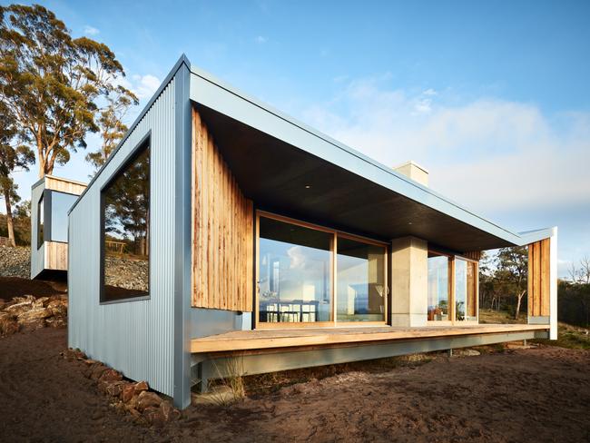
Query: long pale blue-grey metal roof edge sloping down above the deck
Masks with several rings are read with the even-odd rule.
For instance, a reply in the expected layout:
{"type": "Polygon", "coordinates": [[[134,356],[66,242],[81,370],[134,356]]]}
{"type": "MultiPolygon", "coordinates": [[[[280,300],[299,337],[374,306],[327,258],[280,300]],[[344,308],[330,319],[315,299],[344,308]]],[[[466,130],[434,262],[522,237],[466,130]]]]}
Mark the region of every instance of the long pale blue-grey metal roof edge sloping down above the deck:
{"type": "MultiPolygon", "coordinates": [[[[506,232],[506,235],[509,237],[512,237],[512,239],[504,238],[504,240],[510,241],[514,244],[517,244],[517,240],[518,240],[519,236],[516,232],[510,231],[510,230],[500,226],[496,222],[491,222],[491,221],[487,220],[486,218],[482,217],[481,215],[478,215],[477,213],[468,210],[467,208],[465,208],[461,204],[454,202],[453,200],[447,198],[446,196],[444,196],[438,192],[433,191],[431,188],[428,188],[427,186],[424,186],[424,185],[410,179],[409,177],[402,174],[401,172],[396,172],[392,168],[389,168],[387,165],[385,165],[381,162],[378,162],[363,153],[360,153],[358,150],[351,148],[344,143],[340,143],[339,141],[333,139],[329,135],[327,135],[325,133],[321,133],[320,131],[310,127],[308,124],[302,123],[299,120],[291,117],[290,115],[280,112],[278,109],[271,106],[270,104],[263,103],[260,100],[252,97],[251,95],[241,92],[239,89],[231,86],[230,84],[227,84],[227,83],[221,81],[220,79],[218,79],[214,75],[202,70],[201,68],[199,68],[197,66],[191,65],[190,70],[191,70],[192,74],[195,74],[195,75],[201,77],[203,80],[210,82],[211,84],[214,84],[214,85],[226,90],[230,94],[234,94],[234,95],[240,97],[241,99],[251,103],[254,106],[261,108],[262,110],[264,110],[268,113],[275,115],[276,117],[284,120],[287,123],[290,123],[296,127],[299,127],[302,131],[305,131],[307,133],[310,133],[310,134],[320,138],[325,143],[332,144],[333,146],[341,149],[342,151],[349,153],[350,155],[354,155],[355,157],[359,158],[360,160],[362,160],[364,162],[368,162],[371,166],[377,167],[377,168],[379,168],[379,170],[382,170],[384,172],[388,172],[388,174],[392,175],[396,179],[401,180],[403,182],[407,182],[408,184],[410,184],[412,186],[415,186],[416,188],[418,188],[419,191],[430,194],[433,197],[438,198],[442,202],[445,202],[447,204],[454,206],[455,208],[457,208],[460,211],[467,212],[471,216],[476,217],[481,222],[485,222],[485,223],[497,228],[500,231],[506,232]]],[[[408,196],[408,198],[411,198],[411,197],[408,196]]],[[[414,199],[412,199],[412,200],[414,200],[414,199]]],[[[420,203],[425,204],[424,202],[420,202],[420,203]]]]}

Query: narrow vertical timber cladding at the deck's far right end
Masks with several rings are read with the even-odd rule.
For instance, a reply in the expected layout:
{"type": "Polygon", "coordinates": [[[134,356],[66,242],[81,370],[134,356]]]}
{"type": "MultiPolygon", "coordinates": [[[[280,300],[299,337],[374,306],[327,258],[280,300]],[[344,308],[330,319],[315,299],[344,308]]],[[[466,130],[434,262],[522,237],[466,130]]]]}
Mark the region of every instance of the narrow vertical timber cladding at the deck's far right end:
{"type": "Polygon", "coordinates": [[[550,239],[528,245],[528,316],[549,315],[550,239]]]}

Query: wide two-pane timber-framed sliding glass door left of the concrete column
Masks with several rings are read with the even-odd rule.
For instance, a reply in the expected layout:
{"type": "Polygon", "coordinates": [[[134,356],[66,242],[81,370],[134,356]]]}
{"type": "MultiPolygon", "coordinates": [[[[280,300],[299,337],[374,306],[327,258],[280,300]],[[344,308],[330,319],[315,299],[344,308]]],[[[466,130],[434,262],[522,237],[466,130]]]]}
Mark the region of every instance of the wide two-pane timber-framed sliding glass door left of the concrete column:
{"type": "Polygon", "coordinates": [[[385,322],[385,245],[270,214],[258,219],[259,325],[385,322]]]}

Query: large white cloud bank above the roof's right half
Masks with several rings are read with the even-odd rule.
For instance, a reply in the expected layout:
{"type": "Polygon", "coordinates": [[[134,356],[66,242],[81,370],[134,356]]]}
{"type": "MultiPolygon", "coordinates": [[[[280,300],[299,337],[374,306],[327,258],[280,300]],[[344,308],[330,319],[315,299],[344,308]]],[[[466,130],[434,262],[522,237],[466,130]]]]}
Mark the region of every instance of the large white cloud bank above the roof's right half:
{"type": "Polygon", "coordinates": [[[450,105],[381,80],[345,84],[303,120],[385,164],[423,164],[434,189],[477,212],[590,206],[590,113],[547,116],[494,98],[450,105]]]}

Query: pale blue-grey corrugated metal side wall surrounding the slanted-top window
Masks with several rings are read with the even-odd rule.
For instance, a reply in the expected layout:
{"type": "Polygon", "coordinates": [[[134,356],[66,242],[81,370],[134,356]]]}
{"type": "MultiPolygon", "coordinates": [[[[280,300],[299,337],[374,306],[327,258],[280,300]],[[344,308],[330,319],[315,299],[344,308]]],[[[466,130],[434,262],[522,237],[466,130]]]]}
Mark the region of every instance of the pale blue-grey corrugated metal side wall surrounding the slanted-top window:
{"type": "Polygon", "coordinates": [[[174,314],[174,82],[162,91],[70,213],[69,346],[172,396],[174,314]],[[99,303],[100,192],[151,134],[150,300],[99,303]]]}

